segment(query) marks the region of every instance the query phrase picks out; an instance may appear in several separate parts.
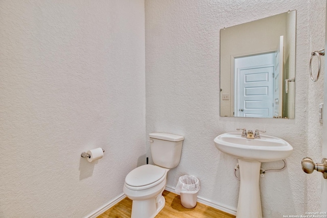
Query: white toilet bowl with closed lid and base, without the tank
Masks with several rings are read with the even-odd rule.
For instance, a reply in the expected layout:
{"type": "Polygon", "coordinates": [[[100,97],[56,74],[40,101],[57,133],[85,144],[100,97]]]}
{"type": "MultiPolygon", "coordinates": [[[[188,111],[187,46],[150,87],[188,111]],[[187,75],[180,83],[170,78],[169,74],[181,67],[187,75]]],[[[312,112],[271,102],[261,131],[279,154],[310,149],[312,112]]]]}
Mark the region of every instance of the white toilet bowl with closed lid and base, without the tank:
{"type": "Polygon", "coordinates": [[[151,164],[139,166],[125,179],[123,191],[133,201],[132,218],[155,217],[165,206],[162,192],[169,169],[151,164]]]}

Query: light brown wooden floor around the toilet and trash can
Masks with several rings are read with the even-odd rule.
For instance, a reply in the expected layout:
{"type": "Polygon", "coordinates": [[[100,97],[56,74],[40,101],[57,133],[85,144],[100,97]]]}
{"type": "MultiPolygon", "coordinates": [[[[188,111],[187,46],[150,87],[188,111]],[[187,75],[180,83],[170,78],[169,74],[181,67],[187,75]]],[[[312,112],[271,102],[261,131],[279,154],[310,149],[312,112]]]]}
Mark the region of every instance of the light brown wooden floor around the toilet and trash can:
{"type": "MultiPolygon", "coordinates": [[[[162,209],[156,218],[189,218],[189,217],[197,217],[197,218],[235,218],[235,215],[231,215],[229,213],[222,212],[215,208],[206,206],[201,203],[197,203],[195,208],[186,209],[180,204],[180,196],[176,195],[173,192],[164,191],[162,195],[166,199],[166,205],[164,209],[162,209]]],[[[106,212],[102,213],[98,218],[129,218],[131,217],[132,211],[132,201],[127,197],[120,201],[118,204],[111,207],[106,212]]],[[[143,217],[139,217],[143,218],[143,217]]]]}

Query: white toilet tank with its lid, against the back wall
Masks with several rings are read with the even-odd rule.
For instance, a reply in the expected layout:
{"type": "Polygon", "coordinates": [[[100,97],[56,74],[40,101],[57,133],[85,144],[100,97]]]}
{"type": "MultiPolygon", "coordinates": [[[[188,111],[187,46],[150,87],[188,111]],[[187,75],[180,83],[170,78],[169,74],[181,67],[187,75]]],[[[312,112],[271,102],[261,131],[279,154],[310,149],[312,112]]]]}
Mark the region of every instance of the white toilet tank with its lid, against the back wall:
{"type": "Polygon", "coordinates": [[[170,133],[150,133],[150,148],[155,165],[175,168],[180,161],[184,136],[170,133]]]}

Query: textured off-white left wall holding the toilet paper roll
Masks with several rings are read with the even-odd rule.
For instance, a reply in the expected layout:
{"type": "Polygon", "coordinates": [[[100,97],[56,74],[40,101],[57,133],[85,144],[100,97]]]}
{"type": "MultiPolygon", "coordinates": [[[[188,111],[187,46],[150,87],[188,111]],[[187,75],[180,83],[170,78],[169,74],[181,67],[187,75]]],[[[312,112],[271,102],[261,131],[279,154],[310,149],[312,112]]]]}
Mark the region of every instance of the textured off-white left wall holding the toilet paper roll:
{"type": "Polygon", "coordinates": [[[145,162],[144,13],[143,0],[0,2],[0,217],[83,217],[145,162]],[[102,159],[80,157],[97,147],[102,159]]]}

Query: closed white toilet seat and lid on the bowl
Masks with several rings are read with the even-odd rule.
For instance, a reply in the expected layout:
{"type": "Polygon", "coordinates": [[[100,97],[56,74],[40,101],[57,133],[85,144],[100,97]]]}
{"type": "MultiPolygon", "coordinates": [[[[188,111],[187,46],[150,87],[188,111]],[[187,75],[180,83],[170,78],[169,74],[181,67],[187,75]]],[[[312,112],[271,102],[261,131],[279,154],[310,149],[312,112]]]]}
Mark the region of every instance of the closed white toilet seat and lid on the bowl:
{"type": "Polygon", "coordinates": [[[125,178],[125,186],[132,190],[151,188],[166,179],[166,171],[156,165],[146,164],[133,169],[125,178]]]}

